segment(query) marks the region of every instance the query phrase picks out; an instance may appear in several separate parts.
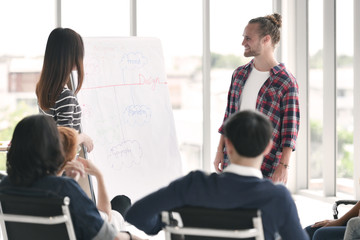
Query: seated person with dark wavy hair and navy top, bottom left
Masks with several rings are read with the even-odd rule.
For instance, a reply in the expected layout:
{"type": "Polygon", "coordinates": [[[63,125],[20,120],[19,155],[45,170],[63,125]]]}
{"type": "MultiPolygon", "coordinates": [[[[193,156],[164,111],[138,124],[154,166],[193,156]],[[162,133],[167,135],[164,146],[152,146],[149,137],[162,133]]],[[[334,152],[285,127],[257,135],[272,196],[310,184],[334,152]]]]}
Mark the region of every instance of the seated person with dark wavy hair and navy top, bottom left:
{"type": "MultiPolygon", "coordinates": [[[[44,196],[70,198],[70,214],[76,239],[131,239],[130,233],[117,232],[104,221],[93,201],[77,182],[57,177],[64,162],[55,121],[45,115],[33,115],[15,127],[7,153],[8,176],[0,182],[0,192],[44,193],[44,196]]],[[[132,239],[138,239],[133,236],[132,239]]]]}

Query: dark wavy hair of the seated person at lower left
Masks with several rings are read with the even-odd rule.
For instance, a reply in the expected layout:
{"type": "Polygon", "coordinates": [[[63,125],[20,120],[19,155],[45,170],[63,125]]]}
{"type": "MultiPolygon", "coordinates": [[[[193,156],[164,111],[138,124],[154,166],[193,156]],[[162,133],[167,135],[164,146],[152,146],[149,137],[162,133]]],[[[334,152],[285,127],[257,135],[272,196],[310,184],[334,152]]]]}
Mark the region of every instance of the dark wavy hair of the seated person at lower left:
{"type": "Polygon", "coordinates": [[[55,175],[63,161],[59,132],[51,117],[32,115],[16,125],[6,160],[12,184],[30,186],[46,175],[55,175]]]}

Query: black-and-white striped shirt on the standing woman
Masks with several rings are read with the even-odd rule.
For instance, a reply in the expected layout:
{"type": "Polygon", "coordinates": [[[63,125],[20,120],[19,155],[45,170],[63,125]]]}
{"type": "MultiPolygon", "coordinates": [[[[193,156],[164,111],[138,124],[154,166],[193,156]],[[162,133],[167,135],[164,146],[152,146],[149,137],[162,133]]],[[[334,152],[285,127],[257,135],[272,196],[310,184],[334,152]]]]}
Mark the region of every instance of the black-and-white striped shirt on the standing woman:
{"type": "Polygon", "coordinates": [[[40,112],[54,118],[58,126],[80,130],[81,108],[77,98],[67,87],[60,93],[54,107],[46,111],[40,108],[40,112]]]}

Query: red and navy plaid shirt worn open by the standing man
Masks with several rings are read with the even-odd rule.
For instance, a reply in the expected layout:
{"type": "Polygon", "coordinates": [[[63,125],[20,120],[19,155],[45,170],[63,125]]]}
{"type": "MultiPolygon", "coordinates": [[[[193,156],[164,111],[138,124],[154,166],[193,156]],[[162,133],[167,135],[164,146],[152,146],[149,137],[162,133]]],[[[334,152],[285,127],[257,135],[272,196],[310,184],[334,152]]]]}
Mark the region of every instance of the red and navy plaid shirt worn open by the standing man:
{"type": "MultiPolygon", "coordinates": [[[[240,109],[240,96],[253,66],[252,60],[234,71],[224,122],[231,114],[240,109]]],[[[286,70],[282,63],[270,70],[270,77],[259,91],[256,99],[256,110],[268,116],[274,127],[272,136],[274,144],[261,165],[264,177],[272,176],[281,159],[283,147],[290,147],[295,150],[300,125],[298,94],[298,84],[295,77],[286,70]]],[[[221,134],[223,134],[223,124],[219,128],[221,134]]],[[[226,166],[228,163],[226,152],[224,158],[226,166]]]]}

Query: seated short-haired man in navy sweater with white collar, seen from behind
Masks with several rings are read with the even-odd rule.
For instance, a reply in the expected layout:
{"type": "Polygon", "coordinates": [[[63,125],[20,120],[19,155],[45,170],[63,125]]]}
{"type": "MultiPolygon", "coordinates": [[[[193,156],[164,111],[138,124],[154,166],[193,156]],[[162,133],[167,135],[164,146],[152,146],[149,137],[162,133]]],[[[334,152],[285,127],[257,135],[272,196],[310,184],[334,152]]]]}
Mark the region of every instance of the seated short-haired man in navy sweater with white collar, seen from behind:
{"type": "Polygon", "coordinates": [[[295,203],[283,185],[263,179],[260,166],[272,146],[272,125],[262,114],[242,111],[225,123],[231,164],[223,173],[194,171],[145,196],[128,210],[125,220],[147,234],[162,229],[161,212],[182,206],[261,210],[265,239],[308,239],[295,203]]]}

